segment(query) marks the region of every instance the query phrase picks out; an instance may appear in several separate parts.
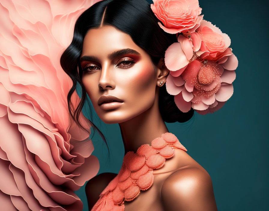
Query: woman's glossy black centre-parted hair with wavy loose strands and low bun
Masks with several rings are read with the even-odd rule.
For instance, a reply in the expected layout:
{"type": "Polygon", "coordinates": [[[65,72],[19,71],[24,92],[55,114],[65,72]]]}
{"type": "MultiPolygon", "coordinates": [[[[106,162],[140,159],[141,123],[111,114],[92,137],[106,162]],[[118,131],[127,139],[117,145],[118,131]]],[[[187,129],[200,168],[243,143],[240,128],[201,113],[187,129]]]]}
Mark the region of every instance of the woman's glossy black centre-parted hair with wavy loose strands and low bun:
{"type": "MultiPolygon", "coordinates": [[[[78,117],[85,100],[88,101],[85,88],[82,84],[82,70],[80,56],[83,39],[89,29],[99,28],[101,25],[111,25],[129,34],[139,47],[144,49],[151,57],[153,64],[157,65],[165,56],[165,50],[177,42],[175,34],[164,32],[157,24],[159,19],[154,15],[150,4],[146,0],[103,0],[93,4],[77,19],[74,26],[74,36],[71,44],[62,53],[60,64],[70,76],[73,86],[68,93],[68,108],[72,119],[81,127],[78,117]],[[79,70],[79,71],[78,71],[79,70]],[[76,89],[77,82],[82,88],[82,97],[74,113],[71,95],[76,89]]],[[[89,103],[89,102],[88,102],[89,103]]],[[[194,110],[181,112],[175,102],[174,96],[167,93],[165,86],[160,87],[159,108],[162,118],[166,122],[186,122],[193,116],[194,110]]],[[[105,141],[101,131],[89,120],[105,141]]],[[[106,142],[106,141],[105,141],[106,142]]]]}

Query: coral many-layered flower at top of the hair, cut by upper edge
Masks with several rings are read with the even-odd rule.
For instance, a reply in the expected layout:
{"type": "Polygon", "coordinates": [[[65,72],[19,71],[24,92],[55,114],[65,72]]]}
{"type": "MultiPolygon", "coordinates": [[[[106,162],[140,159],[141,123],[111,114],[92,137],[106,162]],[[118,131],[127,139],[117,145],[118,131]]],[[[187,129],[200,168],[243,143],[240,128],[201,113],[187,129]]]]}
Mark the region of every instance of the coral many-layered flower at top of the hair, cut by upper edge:
{"type": "Polygon", "coordinates": [[[170,34],[194,32],[203,18],[198,0],[153,0],[150,7],[164,24],[158,22],[160,27],[170,34]]]}

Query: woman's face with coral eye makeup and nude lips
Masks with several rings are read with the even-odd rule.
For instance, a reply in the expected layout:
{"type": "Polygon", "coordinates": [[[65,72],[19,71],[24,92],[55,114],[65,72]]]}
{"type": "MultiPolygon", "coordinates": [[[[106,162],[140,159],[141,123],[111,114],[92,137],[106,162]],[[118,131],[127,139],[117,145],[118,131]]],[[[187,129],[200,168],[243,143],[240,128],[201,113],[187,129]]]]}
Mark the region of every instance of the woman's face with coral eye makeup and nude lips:
{"type": "Polygon", "coordinates": [[[90,29],[83,41],[80,64],[84,69],[82,83],[105,123],[125,122],[153,105],[157,73],[150,56],[128,34],[113,26],[90,29]],[[101,96],[118,99],[100,105],[110,100],[101,96]]]}

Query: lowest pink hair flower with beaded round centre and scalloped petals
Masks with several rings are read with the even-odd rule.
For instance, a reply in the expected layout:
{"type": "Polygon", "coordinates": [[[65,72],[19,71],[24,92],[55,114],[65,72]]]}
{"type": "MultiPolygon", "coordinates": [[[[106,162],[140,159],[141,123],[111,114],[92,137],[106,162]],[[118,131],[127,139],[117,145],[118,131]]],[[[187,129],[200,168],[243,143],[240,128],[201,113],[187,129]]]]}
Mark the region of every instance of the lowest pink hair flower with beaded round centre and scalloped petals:
{"type": "Polygon", "coordinates": [[[197,58],[187,65],[180,76],[169,74],[166,90],[175,95],[177,107],[183,112],[193,108],[200,114],[220,109],[233,94],[232,82],[238,64],[233,60],[225,63],[197,58]]]}

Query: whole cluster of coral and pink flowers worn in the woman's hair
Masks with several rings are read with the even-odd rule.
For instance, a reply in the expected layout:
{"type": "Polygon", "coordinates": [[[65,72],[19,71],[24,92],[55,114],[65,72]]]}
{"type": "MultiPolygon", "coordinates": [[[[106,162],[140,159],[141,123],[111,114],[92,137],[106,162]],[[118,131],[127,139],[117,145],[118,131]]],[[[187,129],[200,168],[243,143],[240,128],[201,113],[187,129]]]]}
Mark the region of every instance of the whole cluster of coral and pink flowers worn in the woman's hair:
{"type": "Polygon", "coordinates": [[[166,90],[182,112],[213,113],[233,94],[238,60],[229,36],[203,19],[198,0],[153,0],[150,5],[177,42],[165,51],[166,90]]]}

